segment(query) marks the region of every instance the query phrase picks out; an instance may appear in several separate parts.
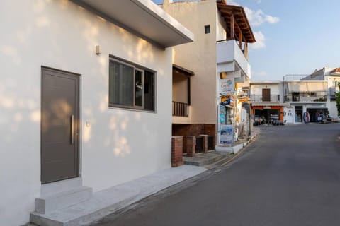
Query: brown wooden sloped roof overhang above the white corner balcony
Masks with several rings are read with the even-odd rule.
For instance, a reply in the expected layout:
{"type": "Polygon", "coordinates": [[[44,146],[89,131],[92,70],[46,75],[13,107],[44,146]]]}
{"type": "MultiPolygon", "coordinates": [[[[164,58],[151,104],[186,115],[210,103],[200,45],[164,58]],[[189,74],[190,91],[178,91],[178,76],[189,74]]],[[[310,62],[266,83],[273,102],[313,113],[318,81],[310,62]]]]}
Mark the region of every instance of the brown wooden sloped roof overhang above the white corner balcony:
{"type": "Polygon", "coordinates": [[[248,18],[246,18],[246,12],[244,11],[243,7],[227,5],[225,4],[225,1],[217,1],[217,8],[221,13],[222,18],[225,19],[227,27],[230,26],[231,16],[234,15],[234,20],[239,27],[239,29],[235,29],[236,34],[238,35],[239,32],[242,32],[242,35],[246,42],[256,42],[254,33],[251,30],[249,20],[248,18]]]}

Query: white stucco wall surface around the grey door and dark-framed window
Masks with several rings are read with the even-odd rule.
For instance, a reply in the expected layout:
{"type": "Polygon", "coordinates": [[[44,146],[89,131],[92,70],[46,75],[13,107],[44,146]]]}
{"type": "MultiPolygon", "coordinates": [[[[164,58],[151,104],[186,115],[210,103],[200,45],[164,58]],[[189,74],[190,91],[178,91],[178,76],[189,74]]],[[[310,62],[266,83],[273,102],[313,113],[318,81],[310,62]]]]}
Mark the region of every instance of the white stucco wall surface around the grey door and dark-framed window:
{"type": "Polygon", "coordinates": [[[171,167],[171,49],[70,1],[4,0],[0,23],[1,225],[28,222],[40,194],[41,66],[81,74],[84,186],[98,191],[171,167]],[[109,54],[157,71],[157,113],[108,108],[109,54]]]}

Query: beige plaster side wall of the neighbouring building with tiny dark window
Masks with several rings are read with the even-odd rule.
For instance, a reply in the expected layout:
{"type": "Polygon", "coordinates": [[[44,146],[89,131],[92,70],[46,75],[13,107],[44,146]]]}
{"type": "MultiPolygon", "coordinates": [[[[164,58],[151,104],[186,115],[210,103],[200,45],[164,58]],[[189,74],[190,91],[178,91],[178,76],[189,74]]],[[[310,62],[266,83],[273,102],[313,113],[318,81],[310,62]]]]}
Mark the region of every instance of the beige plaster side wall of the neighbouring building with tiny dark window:
{"type": "Polygon", "coordinates": [[[216,124],[216,1],[183,1],[162,6],[195,35],[195,41],[174,47],[174,64],[195,73],[191,77],[191,107],[188,119],[174,117],[174,123],[216,124]],[[205,25],[210,33],[205,34],[205,25]]]}

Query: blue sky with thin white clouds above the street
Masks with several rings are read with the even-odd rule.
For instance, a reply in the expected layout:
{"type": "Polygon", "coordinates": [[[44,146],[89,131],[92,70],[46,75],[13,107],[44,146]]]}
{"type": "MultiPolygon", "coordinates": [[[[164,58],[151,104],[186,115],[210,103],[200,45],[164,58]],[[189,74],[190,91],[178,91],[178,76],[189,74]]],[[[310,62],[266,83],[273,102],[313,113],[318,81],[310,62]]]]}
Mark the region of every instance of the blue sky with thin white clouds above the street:
{"type": "Polygon", "coordinates": [[[339,0],[227,0],[227,4],[244,7],[256,37],[249,50],[252,81],[340,67],[339,0]]]}

